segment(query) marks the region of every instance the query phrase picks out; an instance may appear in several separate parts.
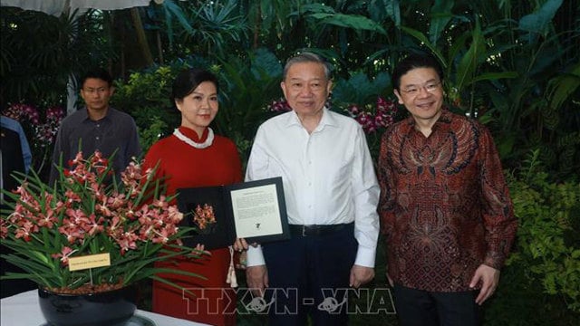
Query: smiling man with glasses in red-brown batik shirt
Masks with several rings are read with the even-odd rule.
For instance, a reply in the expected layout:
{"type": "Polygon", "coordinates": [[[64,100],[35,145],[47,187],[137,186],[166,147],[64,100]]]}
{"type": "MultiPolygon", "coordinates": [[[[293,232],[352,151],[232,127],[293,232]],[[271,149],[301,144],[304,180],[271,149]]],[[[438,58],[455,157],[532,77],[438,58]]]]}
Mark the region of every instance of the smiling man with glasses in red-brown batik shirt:
{"type": "Polygon", "coordinates": [[[408,56],[392,81],[411,117],[382,136],[379,214],[401,325],[479,325],[517,229],[498,151],[444,108],[433,57],[408,56]]]}

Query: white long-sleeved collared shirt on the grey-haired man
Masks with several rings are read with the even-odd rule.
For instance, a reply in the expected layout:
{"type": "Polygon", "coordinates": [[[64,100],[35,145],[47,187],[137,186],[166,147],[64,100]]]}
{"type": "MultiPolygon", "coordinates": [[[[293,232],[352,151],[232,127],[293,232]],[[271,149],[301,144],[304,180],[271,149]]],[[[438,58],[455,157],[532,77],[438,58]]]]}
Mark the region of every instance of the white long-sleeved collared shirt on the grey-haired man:
{"type": "MultiPolygon", "coordinates": [[[[268,177],[283,178],[289,224],[354,222],[354,264],[374,267],[380,187],[358,122],[324,109],[309,134],[294,111],[266,120],[256,132],[246,180],[268,177]]],[[[250,246],[247,265],[260,264],[261,248],[250,246]]]]}

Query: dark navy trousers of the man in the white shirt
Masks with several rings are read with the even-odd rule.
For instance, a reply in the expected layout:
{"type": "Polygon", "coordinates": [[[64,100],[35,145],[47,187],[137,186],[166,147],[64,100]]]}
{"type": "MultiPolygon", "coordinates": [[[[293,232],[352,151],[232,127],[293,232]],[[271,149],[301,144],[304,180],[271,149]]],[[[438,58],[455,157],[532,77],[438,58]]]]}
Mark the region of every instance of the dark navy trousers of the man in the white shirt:
{"type": "Polygon", "coordinates": [[[347,324],[346,293],[358,244],[353,225],[332,234],[263,245],[269,277],[266,302],[272,326],[347,324]]]}

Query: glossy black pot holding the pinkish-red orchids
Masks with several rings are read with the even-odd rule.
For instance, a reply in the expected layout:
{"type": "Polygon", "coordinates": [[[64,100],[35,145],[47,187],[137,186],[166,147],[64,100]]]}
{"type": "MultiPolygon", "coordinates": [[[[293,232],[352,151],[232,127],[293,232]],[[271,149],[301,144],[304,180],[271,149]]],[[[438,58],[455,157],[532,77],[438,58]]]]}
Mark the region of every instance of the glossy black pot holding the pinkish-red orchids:
{"type": "Polygon", "coordinates": [[[44,318],[53,326],[114,326],[129,321],[137,308],[133,286],[109,292],[62,294],[38,289],[44,318]]]}

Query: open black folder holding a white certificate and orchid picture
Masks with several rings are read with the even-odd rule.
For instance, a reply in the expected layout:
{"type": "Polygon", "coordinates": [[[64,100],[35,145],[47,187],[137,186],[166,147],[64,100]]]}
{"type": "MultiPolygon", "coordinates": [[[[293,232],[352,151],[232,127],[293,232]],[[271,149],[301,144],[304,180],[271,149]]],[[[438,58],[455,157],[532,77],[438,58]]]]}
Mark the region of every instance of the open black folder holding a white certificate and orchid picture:
{"type": "Polygon", "coordinates": [[[206,249],[232,245],[237,237],[248,244],[290,238],[282,177],[228,186],[178,189],[182,224],[195,228],[185,245],[206,249]]]}

